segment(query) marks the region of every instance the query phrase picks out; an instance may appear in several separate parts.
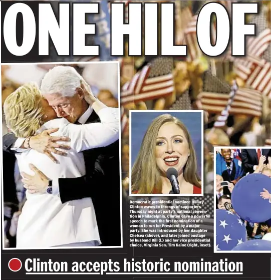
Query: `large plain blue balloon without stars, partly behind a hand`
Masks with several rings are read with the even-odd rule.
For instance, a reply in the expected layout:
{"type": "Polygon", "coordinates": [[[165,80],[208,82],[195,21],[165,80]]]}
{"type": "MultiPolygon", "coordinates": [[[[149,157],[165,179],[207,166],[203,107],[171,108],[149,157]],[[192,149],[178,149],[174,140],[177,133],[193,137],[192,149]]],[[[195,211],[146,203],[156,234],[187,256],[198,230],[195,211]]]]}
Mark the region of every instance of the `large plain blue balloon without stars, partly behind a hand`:
{"type": "Polygon", "coordinates": [[[244,176],[234,186],[231,203],[243,220],[264,222],[271,218],[271,203],[260,196],[263,188],[271,193],[271,178],[256,173],[244,176]]]}

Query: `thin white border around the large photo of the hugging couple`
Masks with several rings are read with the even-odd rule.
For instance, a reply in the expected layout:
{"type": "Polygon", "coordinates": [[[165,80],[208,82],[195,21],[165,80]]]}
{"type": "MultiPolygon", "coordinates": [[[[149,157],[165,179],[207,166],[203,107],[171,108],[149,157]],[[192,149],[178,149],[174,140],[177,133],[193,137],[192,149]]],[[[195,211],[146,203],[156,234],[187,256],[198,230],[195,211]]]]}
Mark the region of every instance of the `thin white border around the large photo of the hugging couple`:
{"type": "MultiPolygon", "coordinates": [[[[1,52],[0,52],[1,53],[1,52]]],[[[0,54],[1,56],[1,54],[0,54]]],[[[1,57],[0,57],[1,59],[1,57]]],[[[1,61],[1,60],[0,60],[1,61]]],[[[120,238],[121,238],[121,245],[120,246],[92,246],[92,247],[45,247],[45,248],[5,248],[5,234],[4,234],[4,181],[3,181],[3,150],[0,153],[1,155],[1,183],[2,183],[2,188],[1,188],[1,204],[2,204],[2,249],[3,250],[47,250],[47,249],[103,249],[103,248],[123,248],[123,209],[122,209],[122,168],[121,168],[121,104],[120,104],[120,62],[119,61],[78,61],[78,62],[29,62],[29,63],[1,63],[2,65],[20,65],[20,66],[24,66],[24,65],[81,65],[81,64],[117,64],[118,66],[118,109],[119,109],[119,171],[120,171],[120,230],[121,230],[121,234],[120,234],[120,238]]],[[[2,82],[1,82],[1,86],[2,86],[2,82]]],[[[1,101],[2,101],[2,96],[1,96],[1,101]]],[[[1,106],[1,113],[2,113],[2,117],[3,117],[3,112],[2,112],[2,106],[1,106]]],[[[1,119],[2,119],[1,117],[1,119]]],[[[1,144],[3,146],[3,130],[2,130],[2,126],[0,128],[0,132],[1,132],[1,144]]]]}

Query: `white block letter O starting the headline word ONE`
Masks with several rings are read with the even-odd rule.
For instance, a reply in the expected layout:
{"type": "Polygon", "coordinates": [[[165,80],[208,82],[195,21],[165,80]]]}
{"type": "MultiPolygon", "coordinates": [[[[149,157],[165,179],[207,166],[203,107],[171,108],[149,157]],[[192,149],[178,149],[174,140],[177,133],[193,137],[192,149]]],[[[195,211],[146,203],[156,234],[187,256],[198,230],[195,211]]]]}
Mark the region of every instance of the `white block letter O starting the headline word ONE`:
{"type": "Polygon", "coordinates": [[[12,5],[4,19],[3,34],[7,49],[11,54],[15,56],[27,55],[33,48],[36,37],[36,21],[31,8],[23,3],[12,5]],[[24,38],[20,47],[16,41],[16,18],[18,13],[23,14],[24,21],[24,38]]]}

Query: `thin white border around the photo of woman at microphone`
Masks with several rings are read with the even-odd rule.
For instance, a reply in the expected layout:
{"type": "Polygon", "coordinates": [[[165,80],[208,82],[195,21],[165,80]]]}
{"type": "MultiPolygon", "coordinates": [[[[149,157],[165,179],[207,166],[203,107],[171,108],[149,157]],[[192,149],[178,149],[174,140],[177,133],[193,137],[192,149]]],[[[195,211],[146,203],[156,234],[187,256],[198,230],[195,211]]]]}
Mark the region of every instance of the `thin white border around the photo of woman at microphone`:
{"type": "Polygon", "coordinates": [[[129,111],[129,196],[203,196],[204,195],[204,115],[203,110],[130,110],[129,111]],[[138,193],[132,193],[132,113],[164,113],[164,114],[170,114],[170,113],[201,113],[201,194],[138,194],[138,193]]]}

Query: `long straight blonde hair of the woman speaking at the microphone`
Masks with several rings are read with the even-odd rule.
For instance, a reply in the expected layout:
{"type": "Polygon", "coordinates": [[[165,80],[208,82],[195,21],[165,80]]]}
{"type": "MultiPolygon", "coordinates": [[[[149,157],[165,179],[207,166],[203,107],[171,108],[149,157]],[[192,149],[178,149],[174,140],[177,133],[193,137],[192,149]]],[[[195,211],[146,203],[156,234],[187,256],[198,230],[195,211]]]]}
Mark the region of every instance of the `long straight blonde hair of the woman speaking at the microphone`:
{"type": "Polygon", "coordinates": [[[195,149],[187,128],[179,119],[164,114],[152,121],[144,135],[139,154],[132,168],[132,192],[149,194],[153,193],[154,188],[157,189],[158,193],[162,192],[162,178],[156,165],[155,146],[159,129],[165,123],[175,123],[183,130],[190,150],[190,156],[183,170],[184,179],[197,187],[201,187],[200,178],[197,175],[195,149]]]}

